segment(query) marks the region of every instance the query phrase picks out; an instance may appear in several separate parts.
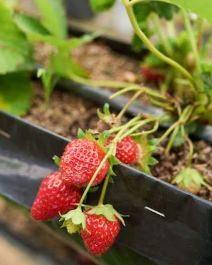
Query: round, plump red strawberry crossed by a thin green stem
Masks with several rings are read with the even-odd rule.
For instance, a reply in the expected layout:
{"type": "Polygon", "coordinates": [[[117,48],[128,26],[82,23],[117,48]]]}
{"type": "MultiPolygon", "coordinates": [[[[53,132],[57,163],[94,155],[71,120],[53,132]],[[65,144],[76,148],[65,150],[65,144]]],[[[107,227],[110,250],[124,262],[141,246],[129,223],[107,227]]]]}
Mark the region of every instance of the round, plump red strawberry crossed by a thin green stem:
{"type": "MultiPolygon", "coordinates": [[[[62,180],[75,186],[87,186],[104,157],[102,148],[91,139],[76,139],[68,143],[60,161],[62,180]]],[[[108,168],[109,162],[106,161],[92,186],[105,178],[108,168]]]]}

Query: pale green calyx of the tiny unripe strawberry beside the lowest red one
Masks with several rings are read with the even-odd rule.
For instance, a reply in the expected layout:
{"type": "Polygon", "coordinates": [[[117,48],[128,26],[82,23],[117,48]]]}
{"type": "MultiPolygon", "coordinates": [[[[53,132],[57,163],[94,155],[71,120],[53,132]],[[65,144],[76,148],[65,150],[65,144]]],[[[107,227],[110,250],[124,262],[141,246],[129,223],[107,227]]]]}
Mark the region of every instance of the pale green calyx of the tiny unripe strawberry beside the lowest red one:
{"type": "Polygon", "coordinates": [[[67,214],[61,215],[60,221],[63,221],[64,223],[62,224],[62,227],[65,227],[67,224],[67,220],[69,220],[74,224],[74,225],[82,225],[82,228],[85,230],[85,215],[81,211],[80,208],[76,208],[75,210],[69,211],[67,214]]]}

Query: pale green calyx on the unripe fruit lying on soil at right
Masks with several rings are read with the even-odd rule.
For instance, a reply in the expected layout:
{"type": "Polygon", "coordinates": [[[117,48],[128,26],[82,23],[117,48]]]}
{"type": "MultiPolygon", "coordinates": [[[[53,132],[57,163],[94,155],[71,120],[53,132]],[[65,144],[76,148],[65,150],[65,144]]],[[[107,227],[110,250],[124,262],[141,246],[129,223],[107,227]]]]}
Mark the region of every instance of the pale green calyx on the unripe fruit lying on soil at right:
{"type": "Polygon", "coordinates": [[[182,183],[186,188],[188,188],[192,182],[195,183],[199,188],[201,185],[207,186],[207,183],[204,181],[204,176],[196,169],[191,168],[182,170],[172,181],[172,183],[176,184],[182,183]]]}

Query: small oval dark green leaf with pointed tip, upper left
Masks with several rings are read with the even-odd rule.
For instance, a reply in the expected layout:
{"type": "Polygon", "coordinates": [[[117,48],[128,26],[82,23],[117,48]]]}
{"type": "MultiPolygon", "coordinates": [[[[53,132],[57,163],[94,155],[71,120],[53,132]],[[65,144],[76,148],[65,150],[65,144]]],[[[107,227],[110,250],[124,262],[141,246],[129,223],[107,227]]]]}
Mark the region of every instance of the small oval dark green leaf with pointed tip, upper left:
{"type": "Polygon", "coordinates": [[[16,25],[24,32],[50,35],[49,31],[40,23],[39,19],[24,14],[15,14],[14,21],[16,25]]]}

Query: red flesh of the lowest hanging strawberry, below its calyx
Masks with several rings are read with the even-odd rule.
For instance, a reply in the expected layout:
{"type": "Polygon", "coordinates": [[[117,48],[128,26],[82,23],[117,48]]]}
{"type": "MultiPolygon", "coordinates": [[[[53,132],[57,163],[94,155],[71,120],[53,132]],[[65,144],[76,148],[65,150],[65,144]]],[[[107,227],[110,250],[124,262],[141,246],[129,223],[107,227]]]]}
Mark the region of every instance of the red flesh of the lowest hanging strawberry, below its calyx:
{"type": "Polygon", "coordinates": [[[120,223],[115,216],[116,221],[109,221],[104,215],[89,215],[84,212],[86,218],[86,229],[81,228],[81,236],[88,251],[100,256],[105,253],[113,244],[118,236],[120,223]]]}

